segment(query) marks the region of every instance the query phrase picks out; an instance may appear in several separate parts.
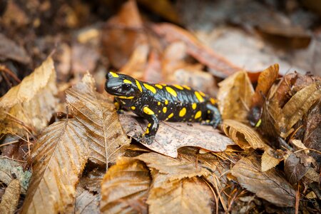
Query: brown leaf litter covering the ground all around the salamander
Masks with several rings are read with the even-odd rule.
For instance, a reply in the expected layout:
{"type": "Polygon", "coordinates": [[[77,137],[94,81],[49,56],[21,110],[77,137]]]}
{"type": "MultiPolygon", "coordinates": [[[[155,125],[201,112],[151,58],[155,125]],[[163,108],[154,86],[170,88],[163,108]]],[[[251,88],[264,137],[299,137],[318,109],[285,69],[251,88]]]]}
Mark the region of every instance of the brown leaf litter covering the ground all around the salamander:
{"type": "MultiPolygon", "coordinates": [[[[72,6],[44,3],[38,10],[34,10],[36,4],[26,8],[16,1],[8,3],[0,22],[4,27],[1,36],[8,41],[0,45],[4,62],[0,65],[0,93],[11,88],[0,98],[1,209],[6,207],[11,213],[320,210],[316,200],[320,199],[321,79],[312,74],[280,75],[279,67],[284,74],[286,57],[292,55],[283,55],[283,60],[280,50],[284,45],[278,51],[270,46],[286,38],[285,46],[294,58],[300,55],[298,49],[307,54],[305,58],[315,58],[304,49],[317,42],[317,31],[310,36],[306,34],[310,25],[295,27],[294,16],[285,15],[293,11],[280,14],[273,10],[269,23],[264,16],[270,9],[263,10],[261,3],[243,4],[240,9],[231,6],[235,16],[225,18],[236,26],[215,28],[216,44],[205,45],[197,37],[213,35],[184,29],[198,20],[186,24],[186,14],[181,16],[182,11],[176,10],[182,9],[182,4],[176,8],[172,1],[164,2],[158,6],[140,0],[138,4],[133,0],[124,4],[76,1],[72,6]],[[107,21],[99,10],[92,16],[91,9],[99,4],[118,13],[109,14],[107,21]],[[248,19],[248,11],[255,8],[263,11],[261,21],[248,19]],[[16,22],[10,11],[19,11],[14,13],[19,14],[16,22]],[[156,22],[154,13],[172,24],[156,22]],[[54,20],[52,29],[46,29],[51,26],[48,17],[54,20]],[[89,23],[88,17],[97,22],[89,23]],[[43,38],[30,34],[26,45],[20,29],[28,29],[28,23],[36,31],[54,34],[43,38]],[[246,25],[250,31],[245,36],[246,25]],[[242,34],[235,34],[240,31],[242,34]],[[254,49],[250,53],[256,54],[250,57],[260,61],[260,66],[246,58],[249,54],[243,48],[226,52],[232,43],[228,39],[233,39],[233,46],[240,45],[236,35],[244,36],[243,45],[258,42],[248,49],[254,49]],[[255,35],[260,39],[247,40],[255,35]],[[58,44],[57,54],[51,54],[54,44],[58,44]],[[258,53],[260,47],[265,53],[258,53]],[[266,59],[271,50],[275,56],[266,59]],[[273,64],[275,61],[280,66],[273,64]],[[34,69],[36,64],[41,66],[34,69]],[[263,69],[266,64],[271,66],[263,69]],[[211,96],[218,94],[224,119],[220,130],[198,123],[162,121],[156,142],[140,143],[135,136],[143,133],[146,121],[131,113],[118,115],[112,98],[97,92],[103,91],[104,75],[110,68],[143,81],[178,83],[211,96]],[[20,77],[26,78],[20,82],[20,77]],[[56,111],[64,111],[66,106],[66,112],[56,116],[56,111]],[[20,183],[20,190],[11,188],[13,182],[20,183]],[[3,206],[12,190],[12,197],[25,197],[3,206]]],[[[226,10],[219,1],[200,2],[199,6],[213,9],[210,4],[226,10]]],[[[207,21],[217,23],[210,19],[204,23],[207,21]]],[[[310,64],[318,66],[317,62],[310,64]]],[[[315,72],[315,68],[311,70],[315,72]]]]}

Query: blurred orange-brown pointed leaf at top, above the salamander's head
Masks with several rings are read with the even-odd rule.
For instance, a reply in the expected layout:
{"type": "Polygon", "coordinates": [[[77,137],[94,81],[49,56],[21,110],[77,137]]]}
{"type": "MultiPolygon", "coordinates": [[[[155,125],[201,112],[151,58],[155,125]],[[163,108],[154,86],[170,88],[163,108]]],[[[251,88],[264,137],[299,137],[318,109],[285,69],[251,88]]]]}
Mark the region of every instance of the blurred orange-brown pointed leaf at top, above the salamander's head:
{"type": "Polygon", "coordinates": [[[123,67],[138,44],[146,43],[143,22],[136,1],[127,1],[111,17],[102,32],[103,51],[115,68],[123,67]]]}

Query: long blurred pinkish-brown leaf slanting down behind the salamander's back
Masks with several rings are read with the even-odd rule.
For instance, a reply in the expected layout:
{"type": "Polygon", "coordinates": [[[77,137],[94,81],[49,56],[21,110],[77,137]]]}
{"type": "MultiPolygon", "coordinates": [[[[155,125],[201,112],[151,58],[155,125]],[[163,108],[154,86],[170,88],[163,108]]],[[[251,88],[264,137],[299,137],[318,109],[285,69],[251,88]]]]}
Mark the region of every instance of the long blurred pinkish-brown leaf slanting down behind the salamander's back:
{"type": "Polygon", "coordinates": [[[205,64],[205,66],[212,68],[214,74],[217,76],[226,77],[236,71],[242,70],[222,56],[216,54],[212,49],[208,48],[208,46],[202,44],[188,31],[174,24],[154,24],[152,29],[156,34],[163,36],[168,43],[183,41],[187,46],[188,54],[196,58],[200,63],[205,64]]]}

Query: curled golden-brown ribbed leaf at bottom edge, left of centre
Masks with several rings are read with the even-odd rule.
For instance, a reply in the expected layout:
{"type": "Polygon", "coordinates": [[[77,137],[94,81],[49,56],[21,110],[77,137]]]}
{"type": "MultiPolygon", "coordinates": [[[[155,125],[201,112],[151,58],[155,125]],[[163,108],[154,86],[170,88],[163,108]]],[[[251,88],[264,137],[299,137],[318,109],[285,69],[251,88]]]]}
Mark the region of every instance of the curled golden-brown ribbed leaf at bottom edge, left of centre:
{"type": "Polygon", "coordinates": [[[101,213],[147,213],[151,173],[142,161],[120,158],[101,183],[101,213]]]}

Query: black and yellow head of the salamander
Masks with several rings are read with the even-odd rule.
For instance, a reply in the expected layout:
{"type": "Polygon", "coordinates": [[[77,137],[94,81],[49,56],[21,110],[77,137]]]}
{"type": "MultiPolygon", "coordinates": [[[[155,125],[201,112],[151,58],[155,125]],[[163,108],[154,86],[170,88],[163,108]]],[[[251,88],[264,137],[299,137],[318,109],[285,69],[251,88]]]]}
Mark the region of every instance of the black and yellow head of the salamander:
{"type": "Polygon", "coordinates": [[[132,99],[141,95],[135,78],[121,73],[109,71],[106,74],[105,90],[113,96],[124,99],[132,99]]]}

